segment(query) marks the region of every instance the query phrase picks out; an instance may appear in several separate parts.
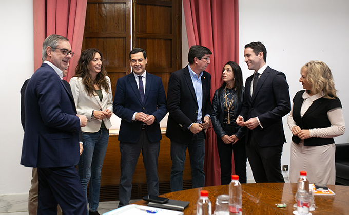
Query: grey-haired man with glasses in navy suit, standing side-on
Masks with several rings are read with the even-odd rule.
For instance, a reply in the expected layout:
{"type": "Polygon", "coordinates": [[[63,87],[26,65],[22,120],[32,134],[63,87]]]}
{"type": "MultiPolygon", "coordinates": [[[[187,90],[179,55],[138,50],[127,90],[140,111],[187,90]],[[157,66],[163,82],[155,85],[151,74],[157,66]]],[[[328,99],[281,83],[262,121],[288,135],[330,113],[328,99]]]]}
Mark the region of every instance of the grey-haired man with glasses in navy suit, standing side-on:
{"type": "Polygon", "coordinates": [[[25,91],[25,132],[21,164],[37,167],[37,214],[86,214],[86,199],[75,168],[79,131],[87,118],[76,115],[74,99],[62,81],[73,56],[67,38],[52,34],[43,43],[43,64],[25,91]]]}

